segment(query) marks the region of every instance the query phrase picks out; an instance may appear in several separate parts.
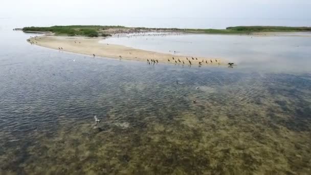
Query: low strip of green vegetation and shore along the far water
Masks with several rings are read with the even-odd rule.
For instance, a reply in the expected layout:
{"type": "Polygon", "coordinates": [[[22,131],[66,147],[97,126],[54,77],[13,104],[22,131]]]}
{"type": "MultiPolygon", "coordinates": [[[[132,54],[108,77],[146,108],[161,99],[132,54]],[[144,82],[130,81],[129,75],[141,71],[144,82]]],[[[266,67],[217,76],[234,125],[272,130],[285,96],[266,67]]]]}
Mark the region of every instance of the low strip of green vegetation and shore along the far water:
{"type": "MultiPolygon", "coordinates": [[[[24,27],[23,31],[53,32],[56,35],[82,35],[88,37],[111,36],[116,30],[149,30],[149,31],[175,31],[189,33],[213,34],[249,34],[254,32],[301,32],[311,31],[311,27],[282,27],[282,26],[237,26],[226,29],[177,29],[177,28],[129,28],[124,26],[52,26],[52,27],[24,27]],[[107,31],[108,29],[115,29],[107,31]]],[[[119,32],[119,31],[117,31],[119,32]]]]}

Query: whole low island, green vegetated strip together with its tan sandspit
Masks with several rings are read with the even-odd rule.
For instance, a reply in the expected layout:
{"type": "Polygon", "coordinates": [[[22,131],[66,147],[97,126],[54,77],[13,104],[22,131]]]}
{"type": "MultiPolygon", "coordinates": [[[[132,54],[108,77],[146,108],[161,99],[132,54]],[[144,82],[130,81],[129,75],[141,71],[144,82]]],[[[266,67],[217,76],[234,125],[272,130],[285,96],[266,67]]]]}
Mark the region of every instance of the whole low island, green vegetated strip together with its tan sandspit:
{"type": "Polygon", "coordinates": [[[91,56],[147,61],[149,64],[161,62],[187,65],[228,65],[229,61],[224,58],[159,53],[121,45],[110,45],[109,43],[100,43],[99,41],[107,37],[125,37],[132,34],[156,32],[168,34],[195,33],[266,36],[276,32],[311,32],[311,27],[237,26],[226,29],[178,29],[124,26],[52,26],[24,27],[14,30],[45,34],[27,39],[33,45],[91,56]]]}

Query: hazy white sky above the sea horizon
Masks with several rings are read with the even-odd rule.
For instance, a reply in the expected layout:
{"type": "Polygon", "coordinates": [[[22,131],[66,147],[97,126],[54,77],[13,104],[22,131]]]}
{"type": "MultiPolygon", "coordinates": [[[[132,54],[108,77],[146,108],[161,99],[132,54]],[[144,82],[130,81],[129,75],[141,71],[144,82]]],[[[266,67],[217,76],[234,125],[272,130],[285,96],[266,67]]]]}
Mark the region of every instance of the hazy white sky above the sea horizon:
{"type": "Polygon", "coordinates": [[[0,17],[310,18],[311,0],[14,0],[0,17]]]}

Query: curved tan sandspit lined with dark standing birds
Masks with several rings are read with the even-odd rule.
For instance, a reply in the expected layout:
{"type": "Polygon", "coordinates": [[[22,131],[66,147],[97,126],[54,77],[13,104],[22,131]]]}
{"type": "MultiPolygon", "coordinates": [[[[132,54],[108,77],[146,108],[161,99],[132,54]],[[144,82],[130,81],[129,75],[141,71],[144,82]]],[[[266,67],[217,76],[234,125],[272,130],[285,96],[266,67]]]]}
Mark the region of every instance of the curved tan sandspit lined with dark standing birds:
{"type": "Polygon", "coordinates": [[[174,63],[174,64],[185,64],[189,65],[191,61],[192,65],[225,65],[227,62],[220,58],[206,58],[198,57],[196,55],[173,55],[159,52],[152,52],[140,49],[134,49],[130,47],[125,47],[121,45],[110,45],[108,43],[100,43],[100,40],[104,40],[103,37],[100,38],[88,38],[83,36],[37,36],[28,39],[28,42],[33,45],[38,45],[46,48],[57,49],[73,52],[79,54],[91,55],[95,54],[100,57],[109,57],[117,59],[128,59],[137,61],[147,61],[148,60],[158,60],[159,63],[174,63]],[[62,49],[61,49],[62,48],[62,49]],[[174,59],[172,59],[174,57],[174,59]],[[193,57],[194,59],[192,59],[193,57]],[[189,60],[187,60],[187,58],[189,60]],[[195,59],[197,58],[197,59],[195,59]]]}

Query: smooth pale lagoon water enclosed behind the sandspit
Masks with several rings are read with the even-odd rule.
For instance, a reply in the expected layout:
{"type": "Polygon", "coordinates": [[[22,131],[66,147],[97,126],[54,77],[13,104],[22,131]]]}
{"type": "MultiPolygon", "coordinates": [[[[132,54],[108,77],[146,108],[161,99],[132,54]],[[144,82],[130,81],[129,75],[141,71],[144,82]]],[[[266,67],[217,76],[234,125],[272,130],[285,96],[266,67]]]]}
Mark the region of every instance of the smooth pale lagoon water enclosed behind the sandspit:
{"type": "Polygon", "coordinates": [[[145,33],[112,37],[100,42],[193,57],[223,58],[239,69],[309,72],[311,32],[276,36],[145,33]],[[160,34],[160,36],[159,36],[160,34]],[[296,35],[296,36],[295,36],[296,35]],[[297,36],[298,35],[298,36],[297,36]]]}

